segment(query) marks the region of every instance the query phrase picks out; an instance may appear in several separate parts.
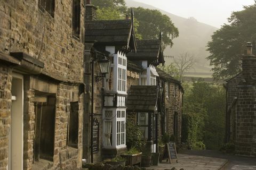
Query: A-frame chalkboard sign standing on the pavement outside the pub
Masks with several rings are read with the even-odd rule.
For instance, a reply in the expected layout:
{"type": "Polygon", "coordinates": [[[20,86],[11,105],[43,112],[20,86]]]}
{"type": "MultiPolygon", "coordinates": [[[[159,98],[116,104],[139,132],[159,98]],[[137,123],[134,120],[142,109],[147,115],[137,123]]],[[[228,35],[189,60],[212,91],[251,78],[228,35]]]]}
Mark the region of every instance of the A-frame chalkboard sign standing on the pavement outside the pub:
{"type": "Polygon", "coordinates": [[[166,163],[169,162],[169,164],[173,163],[174,161],[178,163],[175,142],[169,142],[166,143],[165,145],[166,146],[164,150],[163,159],[166,159],[166,163]]]}

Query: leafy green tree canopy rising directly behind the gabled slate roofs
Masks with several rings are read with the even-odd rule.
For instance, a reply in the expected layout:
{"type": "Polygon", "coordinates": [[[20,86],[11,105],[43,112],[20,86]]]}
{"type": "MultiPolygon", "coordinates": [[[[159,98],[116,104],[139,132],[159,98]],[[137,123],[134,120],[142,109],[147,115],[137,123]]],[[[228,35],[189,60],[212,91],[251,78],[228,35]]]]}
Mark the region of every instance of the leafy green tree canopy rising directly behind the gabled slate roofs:
{"type": "MultiPolygon", "coordinates": [[[[97,15],[99,20],[124,19],[127,10],[124,0],[92,0],[92,4],[98,6],[97,15]]],[[[173,45],[173,38],[179,36],[178,28],[174,26],[167,15],[158,10],[149,10],[142,7],[134,10],[134,31],[138,39],[158,39],[162,31],[163,48],[173,45]]]]}

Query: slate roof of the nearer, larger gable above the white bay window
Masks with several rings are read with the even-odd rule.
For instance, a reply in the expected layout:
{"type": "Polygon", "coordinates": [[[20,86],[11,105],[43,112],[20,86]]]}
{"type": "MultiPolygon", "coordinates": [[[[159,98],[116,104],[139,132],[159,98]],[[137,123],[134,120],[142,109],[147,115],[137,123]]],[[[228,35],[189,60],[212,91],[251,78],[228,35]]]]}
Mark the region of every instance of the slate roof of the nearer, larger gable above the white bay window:
{"type": "Polygon", "coordinates": [[[85,41],[122,45],[136,49],[133,20],[86,21],[85,41]]]}

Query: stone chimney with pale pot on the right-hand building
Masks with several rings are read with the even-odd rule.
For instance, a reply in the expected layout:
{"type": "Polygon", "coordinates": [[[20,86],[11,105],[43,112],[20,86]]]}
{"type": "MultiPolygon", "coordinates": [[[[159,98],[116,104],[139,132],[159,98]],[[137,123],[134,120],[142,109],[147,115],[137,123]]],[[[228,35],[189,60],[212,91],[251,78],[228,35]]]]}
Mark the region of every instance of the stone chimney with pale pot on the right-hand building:
{"type": "Polygon", "coordinates": [[[247,43],[246,55],[242,57],[242,70],[243,78],[247,84],[251,84],[256,80],[256,56],[253,55],[251,42],[247,43]]]}

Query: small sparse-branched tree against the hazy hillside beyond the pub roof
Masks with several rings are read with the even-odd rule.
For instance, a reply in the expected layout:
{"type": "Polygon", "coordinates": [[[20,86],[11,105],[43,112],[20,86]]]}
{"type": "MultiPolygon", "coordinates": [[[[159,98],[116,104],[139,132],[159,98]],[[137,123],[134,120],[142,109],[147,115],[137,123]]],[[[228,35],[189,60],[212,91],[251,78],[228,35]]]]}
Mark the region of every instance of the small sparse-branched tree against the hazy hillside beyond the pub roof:
{"type": "Polygon", "coordinates": [[[196,59],[194,55],[191,55],[188,52],[180,54],[178,58],[174,58],[175,66],[179,69],[180,81],[182,80],[184,73],[191,69],[195,62],[196,59]]]}

